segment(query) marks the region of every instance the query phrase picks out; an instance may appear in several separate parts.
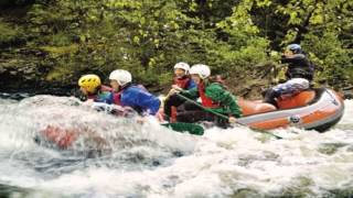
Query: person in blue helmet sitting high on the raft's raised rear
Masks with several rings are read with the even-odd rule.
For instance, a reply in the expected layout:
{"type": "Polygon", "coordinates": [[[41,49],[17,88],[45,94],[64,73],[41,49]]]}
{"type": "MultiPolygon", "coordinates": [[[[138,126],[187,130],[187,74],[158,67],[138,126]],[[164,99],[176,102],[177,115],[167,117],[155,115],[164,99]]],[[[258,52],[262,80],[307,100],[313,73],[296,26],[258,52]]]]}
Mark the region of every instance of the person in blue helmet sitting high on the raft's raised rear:
{"type": "Polygon", "coordinates": [[[308,89],[314,73],[313,65],[298,44],[290,44],[286,47],[281,63],[288,64],[286,72],[287,81],[269,88],[264,97],[264,102],[276,107],[279,97],[290,97],[308,89]]]}

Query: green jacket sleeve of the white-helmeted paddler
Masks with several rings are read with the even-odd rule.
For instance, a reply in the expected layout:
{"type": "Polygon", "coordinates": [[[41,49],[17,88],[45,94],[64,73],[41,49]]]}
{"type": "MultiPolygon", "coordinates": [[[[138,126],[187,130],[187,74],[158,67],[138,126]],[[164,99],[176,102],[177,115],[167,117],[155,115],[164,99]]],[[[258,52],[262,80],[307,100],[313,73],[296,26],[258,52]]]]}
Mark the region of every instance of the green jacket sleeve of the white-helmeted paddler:
{"type": "Polygon", "coordinates": [[[222,107],[221,113],[239,118],[242,117],[240,107],[237,105],[235,96],[225,90],[220,84],[211,84],[205,90],[206,97],[211,98],[215,102],[220,102],[222,107]]]}

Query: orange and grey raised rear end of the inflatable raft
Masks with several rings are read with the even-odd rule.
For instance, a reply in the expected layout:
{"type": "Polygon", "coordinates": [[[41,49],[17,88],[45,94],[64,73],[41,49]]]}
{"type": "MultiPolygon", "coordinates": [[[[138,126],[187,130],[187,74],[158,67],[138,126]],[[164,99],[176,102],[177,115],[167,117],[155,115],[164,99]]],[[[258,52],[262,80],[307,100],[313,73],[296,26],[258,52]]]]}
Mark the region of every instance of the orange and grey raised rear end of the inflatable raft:
{"type": "Polygon", "coordinates": [[[332,89],[320,88],[302,91],[269,103],[238,100],[243,118],[240,124],[254,129],[270,130],[298,127],[306,130],[327,131],[340,121],[344,112],[343,98],[332,89]]]}

